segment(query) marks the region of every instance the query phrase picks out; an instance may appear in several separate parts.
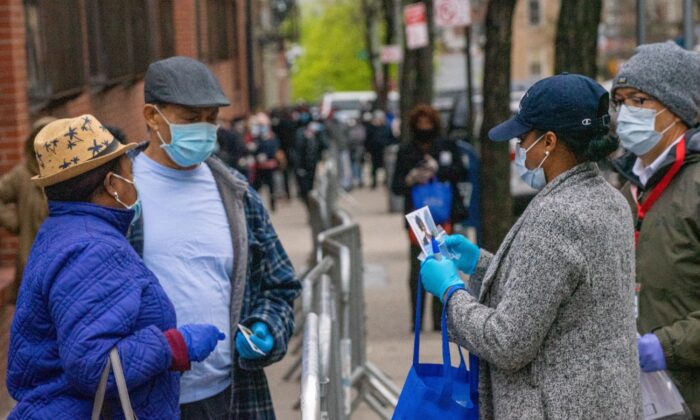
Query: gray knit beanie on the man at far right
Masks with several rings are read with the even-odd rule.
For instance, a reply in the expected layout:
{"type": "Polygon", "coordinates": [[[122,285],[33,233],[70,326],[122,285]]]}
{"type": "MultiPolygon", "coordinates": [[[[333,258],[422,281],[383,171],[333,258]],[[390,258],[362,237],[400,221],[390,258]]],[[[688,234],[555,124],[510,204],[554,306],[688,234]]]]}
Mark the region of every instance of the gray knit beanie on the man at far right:
{"type": "Polygon", "coordinates": [[[640,45],[613,82],[653,96],[688,127],[700,115],[700,54],[684,50],[673,41],[640,45]]]}

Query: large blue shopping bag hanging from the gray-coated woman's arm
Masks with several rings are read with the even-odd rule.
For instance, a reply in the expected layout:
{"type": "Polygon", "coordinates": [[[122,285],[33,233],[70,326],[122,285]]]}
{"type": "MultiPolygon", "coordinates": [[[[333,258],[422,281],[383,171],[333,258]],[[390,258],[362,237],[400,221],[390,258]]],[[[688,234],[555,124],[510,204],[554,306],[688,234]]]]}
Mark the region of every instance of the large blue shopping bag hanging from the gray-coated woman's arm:
{"type": "MultiPolygon", "coordinates": [[[[452,290],[449,294],[452,294],[452,290]]],[[[449,299],[448,294],[448,299],[449,299]]],[[[413,343],[413,366],[408,372],[401,390],[393,420],[408,419],[460,419],[478,420],[479,359],[469,355],[469,367],[464,364],[459,350],[459,367],[450,363],[450,347],[447,340],[447,305],[442,309],[442,364],[419,363],[420,319],[423,287],[418,280],[416,305],[416,331],[413,343]]],[[[446,299],[447,300],[447,299],[446,299]]]]}

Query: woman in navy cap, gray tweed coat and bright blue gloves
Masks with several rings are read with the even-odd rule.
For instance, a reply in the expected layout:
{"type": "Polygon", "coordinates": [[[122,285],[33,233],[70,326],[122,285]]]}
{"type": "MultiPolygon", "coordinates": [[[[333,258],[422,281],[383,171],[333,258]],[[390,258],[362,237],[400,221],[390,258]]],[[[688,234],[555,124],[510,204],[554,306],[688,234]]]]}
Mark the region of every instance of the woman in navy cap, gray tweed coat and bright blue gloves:
{"type": "Polygon", "coordinates": [[[450,338],[479,356],[482,419],[643,418],[632,217],[595,163],[617,148],[608,103],[585,76],[535,83],[489,138],[519,139],[518,173],[539,193],[495,255],[452,235],[457,259],[421,267],[450,338]]]}

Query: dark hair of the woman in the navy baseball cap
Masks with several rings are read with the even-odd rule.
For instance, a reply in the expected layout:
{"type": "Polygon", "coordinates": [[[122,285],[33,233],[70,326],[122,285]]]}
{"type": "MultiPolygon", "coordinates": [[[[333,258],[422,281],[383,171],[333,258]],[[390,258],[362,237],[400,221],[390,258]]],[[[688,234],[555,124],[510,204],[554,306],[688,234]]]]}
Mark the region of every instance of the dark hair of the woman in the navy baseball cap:
{"type": "MultiPolygon", "coordinates": [[[[592,133],[567,134],[557,133],[557,139],[562,141],[579,162],[597,162],[605,159],[617,150],[620,141],[610,135],[610,115],[608,114],[610,97],[600,98],[597,112],[597,128],[592,133]]],[[[546,130],[538,130],[538,136],[546,130]]]]}

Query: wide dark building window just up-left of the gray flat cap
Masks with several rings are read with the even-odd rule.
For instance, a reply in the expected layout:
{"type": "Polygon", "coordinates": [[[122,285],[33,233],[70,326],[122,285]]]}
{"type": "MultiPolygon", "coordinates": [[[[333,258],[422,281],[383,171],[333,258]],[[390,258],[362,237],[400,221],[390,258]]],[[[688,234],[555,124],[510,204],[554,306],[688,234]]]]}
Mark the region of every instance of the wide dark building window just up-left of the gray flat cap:
{"type": "Polygon", "coordinates": [[[91,0],[86,6],[93,85],[134,80],[149,63],[173,54],[172,2],[91,0]]]}

